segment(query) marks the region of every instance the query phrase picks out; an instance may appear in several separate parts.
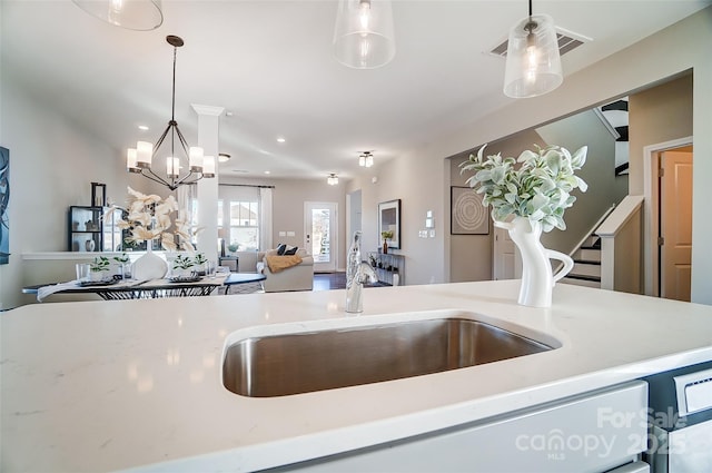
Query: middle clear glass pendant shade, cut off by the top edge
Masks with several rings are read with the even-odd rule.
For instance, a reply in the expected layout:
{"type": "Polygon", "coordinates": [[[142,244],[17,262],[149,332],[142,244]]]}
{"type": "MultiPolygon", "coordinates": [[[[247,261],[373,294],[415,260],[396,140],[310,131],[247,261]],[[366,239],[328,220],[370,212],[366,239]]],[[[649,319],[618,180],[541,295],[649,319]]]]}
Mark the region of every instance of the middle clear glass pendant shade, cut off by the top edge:
{"type": "Polygon", "coordinates": [[[334,56],[344,66],[375,69],[396,55],[390,0],[339,0],[334,56]]]}

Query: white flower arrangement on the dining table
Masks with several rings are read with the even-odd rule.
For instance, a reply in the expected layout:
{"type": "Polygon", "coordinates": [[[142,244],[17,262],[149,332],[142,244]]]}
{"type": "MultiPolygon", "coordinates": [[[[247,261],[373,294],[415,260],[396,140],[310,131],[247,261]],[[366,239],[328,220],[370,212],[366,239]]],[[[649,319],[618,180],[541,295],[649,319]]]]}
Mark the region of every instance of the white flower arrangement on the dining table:
{"type": "MultiPolygon", "coordinates": [[[[161,199],[155,194],[141,194],[130,187],[128,193],[128,215],[126,219],[117,220],[117,226],[129,230],[129,242],[141,243],[160,238],[160,245],[166,250],[195,252],[190,240],[200,228],[192,228],[185,217],[177,216],[171,219],[174,214],[186,215],[178,213],[178,203],[172,195],[161,199]]],[[[107,215],[117,208],[119,207],[112,206],[107,215]]]]}

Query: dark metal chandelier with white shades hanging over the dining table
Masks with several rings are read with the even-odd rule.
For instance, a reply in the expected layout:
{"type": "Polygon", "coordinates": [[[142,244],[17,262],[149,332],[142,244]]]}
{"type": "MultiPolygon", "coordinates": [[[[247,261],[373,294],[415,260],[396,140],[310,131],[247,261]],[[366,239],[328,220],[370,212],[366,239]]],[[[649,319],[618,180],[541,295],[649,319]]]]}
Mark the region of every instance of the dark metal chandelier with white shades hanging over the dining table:
{"type": "Polygon", "coordinates": [[[174,82],[170,121],[168,121],[168,127],[166,127],[155,146],[148,141],[138,141],[136,148],[128,150],[126,155],[126,167],[129,173],[138,173],[152,181],[162,184],[170,190],[176,190],[178,186],[184,184],[194,184],[204,177],[215,177],[215,157],[202,156],[202,148],[189,147],[178,128],[178,122],[176,121],[176,51],[184,45],[184,41],[172,35],[167,36],[166,41],[174,47],[174,82]],[[170,134],[170,155],[166,157],[167,179],[165,179],[154,173],[151,161],[168,134],[170,134]],[[189,170],[184,177],[180,177],[180,158],[178,158],[175,152],[176,137],[178,138],[185,157],[188,158],[189,170]],[[194,176],[194,178],[189,179],[191,176],[194,176]]]}

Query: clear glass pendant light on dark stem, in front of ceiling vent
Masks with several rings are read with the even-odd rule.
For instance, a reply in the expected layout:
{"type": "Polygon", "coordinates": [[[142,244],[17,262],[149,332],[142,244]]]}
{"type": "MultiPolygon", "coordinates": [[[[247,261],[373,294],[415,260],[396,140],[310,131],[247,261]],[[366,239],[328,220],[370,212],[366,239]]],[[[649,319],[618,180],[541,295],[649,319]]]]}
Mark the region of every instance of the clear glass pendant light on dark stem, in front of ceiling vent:
{"type": "Polygon", "coordinates": [[[562,85],[564,75],[554,20],[548,14],[530,16],[510,30],[504,95],[536,97],[562,85]]]}

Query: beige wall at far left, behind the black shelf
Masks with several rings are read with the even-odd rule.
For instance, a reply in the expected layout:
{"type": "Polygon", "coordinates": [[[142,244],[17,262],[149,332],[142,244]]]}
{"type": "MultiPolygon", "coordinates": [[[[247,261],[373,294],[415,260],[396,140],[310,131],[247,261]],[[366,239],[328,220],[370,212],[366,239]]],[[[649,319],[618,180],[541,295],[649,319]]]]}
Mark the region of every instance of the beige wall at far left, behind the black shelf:
{"type": "MultiPolygon", "coordinates": [[[[89,205],[91,181],[107,196],[126,193],[118,151],[29,97],[2,71],[2,146],[10,150],[10,262],[0,266],[0,307],[20,304],[22,254],[67,249],[67,211],[89,205]]],[[[71,266],[73,268],[73,265],[71,266]]]]}

